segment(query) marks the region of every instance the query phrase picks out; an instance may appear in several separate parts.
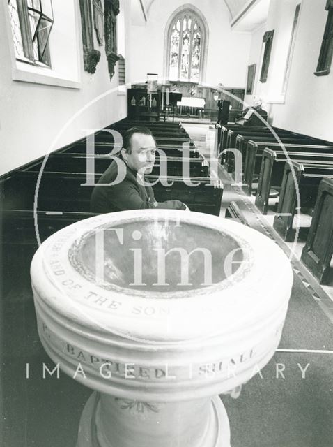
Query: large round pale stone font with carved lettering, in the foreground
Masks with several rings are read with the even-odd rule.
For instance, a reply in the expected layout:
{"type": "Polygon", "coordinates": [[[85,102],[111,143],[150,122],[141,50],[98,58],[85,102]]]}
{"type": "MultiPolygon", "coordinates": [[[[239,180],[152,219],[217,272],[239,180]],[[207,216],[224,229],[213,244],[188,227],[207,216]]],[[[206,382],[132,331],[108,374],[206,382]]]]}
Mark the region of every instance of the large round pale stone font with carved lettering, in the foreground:
{"type": "Polygon", "coordinates": [[[63,228],[31,265],[38,331],[91,388],[77,447],[228,447],[219,394],[272,358],[291,295],[288,258],[228,219],[164,210],[63,228]]]}

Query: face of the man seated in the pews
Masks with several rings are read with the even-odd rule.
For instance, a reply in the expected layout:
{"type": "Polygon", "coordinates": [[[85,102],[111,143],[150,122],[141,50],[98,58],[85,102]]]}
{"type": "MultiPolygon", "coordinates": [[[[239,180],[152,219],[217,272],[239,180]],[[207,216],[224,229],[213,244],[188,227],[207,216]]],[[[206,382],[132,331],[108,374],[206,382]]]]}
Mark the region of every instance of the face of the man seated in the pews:
{"type": "Polygon", "coordinates": [[[150,174],[155,163],[156,145],[151,135],[133,133],[131,152],[123,150],[123,158],[127,165],[137,173],[150,174]]]}

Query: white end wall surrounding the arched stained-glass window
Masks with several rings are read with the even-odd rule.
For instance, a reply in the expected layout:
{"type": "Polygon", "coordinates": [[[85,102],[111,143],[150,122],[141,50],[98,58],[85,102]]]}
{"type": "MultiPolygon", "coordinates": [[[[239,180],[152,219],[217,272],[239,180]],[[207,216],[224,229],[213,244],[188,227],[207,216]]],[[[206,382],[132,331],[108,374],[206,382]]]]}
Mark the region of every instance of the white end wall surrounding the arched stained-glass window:
{"type": "MultiPolygon", "coordinates": [[[[186,2],[184,2],[186,3],[186,2]]],[[[146,81],[146,73],[163,77],[164,34],[166,23],[181,5],[179,0],[155,0],[144,26],[131,28],[131,81],[146,81]]],[[[229,11],[224,2],[192,0],[209,27],[206,84],[245,87],[251,36],[231,32],[229,11]]]]}

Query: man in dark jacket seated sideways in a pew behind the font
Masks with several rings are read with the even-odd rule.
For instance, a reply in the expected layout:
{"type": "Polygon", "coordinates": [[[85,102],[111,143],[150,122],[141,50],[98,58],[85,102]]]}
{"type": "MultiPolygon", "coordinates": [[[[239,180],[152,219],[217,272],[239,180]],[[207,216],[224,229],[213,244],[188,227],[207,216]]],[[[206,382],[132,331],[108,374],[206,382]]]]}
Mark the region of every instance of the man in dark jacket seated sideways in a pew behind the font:
{"type": "Polygon", "coordinates": [[[119,158],[111,162],[91,196],[91,212],[107,213],[124,210],[164,208],[186,210],[180,200],[157,202],[153,188],[144,183],[155,163],[156,143],[145,127],[134,127],[123,135],[119,158]]]}

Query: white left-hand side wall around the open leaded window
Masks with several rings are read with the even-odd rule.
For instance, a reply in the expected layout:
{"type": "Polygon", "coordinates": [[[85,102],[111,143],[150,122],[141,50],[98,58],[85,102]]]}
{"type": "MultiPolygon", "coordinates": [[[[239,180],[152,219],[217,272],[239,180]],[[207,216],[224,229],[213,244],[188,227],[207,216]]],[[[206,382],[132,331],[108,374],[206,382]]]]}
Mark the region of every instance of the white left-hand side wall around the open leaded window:
{"type": "MultiPolygon", "coordinates": [[[[63,0],[53,1],[53,3],[58,2],[61,2],[63,9],[63,0]]],[[[65,24],[65,29],[76,27],[79,31],[79,58],[77,59],[79,65],[75,67],[76,61],[72,61],[71,70],[71,73],[75,75],[77,68],[79,88],[13,80],[13,43],[11,34],[8,32],[10,29],[8,30],[7,3],[6,0],[1,0],[0,4],[0,175],[47,154],[50,149],[57,149],[82,138],[85,135],[84,129],[100,129],[127,115],[126,96],[118,94],[118,91],[108,94],[81,112],[82,108],[95,98],[118,86],[118,71],[116,70],[114,78],[110,81],[104,46],[100,47],[97,41],[95,41],[95,49],[100,50],[101,57],[96,73],[91,75],[84,71],[78,1],[75,2],[77,8],[75,16],[72,17],[75,23],[68,22],[70,14],[64,22],[60,13],[57,13],[59,8],[54,8],[54,20],[58,25],[65,24]],[[62,131],[64,126],[67,127],[65,131],[62,131]]],[[[121,1],[121,8],[128,9],[129,0],[121,1]]],[[[119,17],[121,27],[128,26],[125,20],[127,14],[128,11],[125,13],[122,10],[119,17]]],[[[59,33],[58,28],[56,31],[58,38],[59,33]]],[[[52,39],[55,37],[52,36],[52,39]]],[[[65,60],[68,57],[68,51],[73,47],[73,42],[69,43],[68,49],[61,38],[56,42],[61,45],[54,54],[54,63],[59,66],[61,53],[63,52],[65,60]]],[[[126,48],[123,44],[120,46],[123,54],[126,48]]],[[[126,57],[126,54],[123,56],[126,57]]],[[[15,61],[13,63],[15,64],[15,61]]],[[[68,75],[65,71],[61,74],[68,75]]]]}

